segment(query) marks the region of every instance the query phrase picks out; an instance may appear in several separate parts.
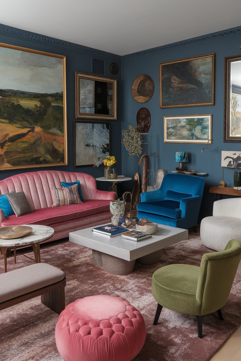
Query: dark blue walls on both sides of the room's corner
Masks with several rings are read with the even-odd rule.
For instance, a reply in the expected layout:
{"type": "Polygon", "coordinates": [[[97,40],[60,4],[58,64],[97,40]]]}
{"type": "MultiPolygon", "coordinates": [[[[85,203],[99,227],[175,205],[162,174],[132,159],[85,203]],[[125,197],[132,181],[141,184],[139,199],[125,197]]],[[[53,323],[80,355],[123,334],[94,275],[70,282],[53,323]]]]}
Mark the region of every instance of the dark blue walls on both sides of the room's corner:
{"type": "MultiPolygon", "coordinates": [[[[241,151],[240,143],[223,142],[223,107],[224,107],[224,57],[240,54],[241,28],[235,28],[196,39],[189,39],[176,44],[150,49],[126,56],[117,56],[100,52],[96,49],[84,48],[81,45],[47,38],[42,35],[28,33],[12,27],[0,25],[0,42],[17,45],[25,48],[61,54],[66,56],[66,93],[67,93],[67,134],[68,134],[68,165],[60,167],[32,168],[26,170],[6,170],[0,172],[0,179],[4,179],[22,171],[36,171],[39,169],[56,169],[66,171],[81,171],[96,177],[103,176],[103,166],[99,168],[73,166],[73,122],[75,119],[75,71],[91,73],[91,59],[99,58],[106,61],[106,76],[117,78],[117,121],[111,123],[111,155],[117,158],[116,168],[118,174],[133,177],[138,171],[142,173],[142,165],[138,166],[139,158],[129,159],[129,154],[121,146],[121,132],[128,125],[136,125],[136,114],[142,107],[151,113],[150,134],[152,135],[151,150],[156,152],[155,170],[165,169],[168,173],[175,170],[176,151],[187,151],[188,169],[208,173],[205,176],[206,185],[201,213],[212,212],[213,195],[208,193],[210,186],[218,186],[223,177],[221,168],[221,151],[241,151]],[[215,53],[215,105],[192,106],[181,108],[159,108],[159,63],[215,53]],[[119,73],[113,76],[109,71],[111,62],[119,66],[119,73]],[[154,82],[154,93],[147,103],[138,103],[132,97],[132,83],[141,74],[149,75],[154,82]],[[164,116],[182,116],[194,114],[212,114],[212,139],[210,149],[201,150],[203,144],[164,143],[164,116]]],[[[84,121],[84,119],[83,119],[84,121]]],[[[103,121],[105,122],[105,121],[103,121]]],[[[143,154],[150,154],[150,137],[143,137],[143,154]]],[[[150,156],[150,169],[153,169],[154,156],[150,156]]],[[[233,170],[224,169],[224,181],[229,187],[233,186],[233,170]]],[[[99,189],[107,189],[107,184],[99,182],[99,189]]],[[[123,183],[125,190],[130,190],[131,182],[123,183]]]]}

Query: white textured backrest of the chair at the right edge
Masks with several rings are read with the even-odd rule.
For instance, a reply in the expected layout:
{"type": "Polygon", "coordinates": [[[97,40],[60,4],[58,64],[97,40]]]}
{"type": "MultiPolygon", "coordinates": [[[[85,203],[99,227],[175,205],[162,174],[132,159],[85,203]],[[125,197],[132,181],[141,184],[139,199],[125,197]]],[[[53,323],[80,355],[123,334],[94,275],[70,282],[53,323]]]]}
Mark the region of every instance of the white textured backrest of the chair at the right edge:
{"type": "Polygon", "coordinates": [[[214,202],[213,216],[241,218],[241,198],[220,199],[214,202]]]}

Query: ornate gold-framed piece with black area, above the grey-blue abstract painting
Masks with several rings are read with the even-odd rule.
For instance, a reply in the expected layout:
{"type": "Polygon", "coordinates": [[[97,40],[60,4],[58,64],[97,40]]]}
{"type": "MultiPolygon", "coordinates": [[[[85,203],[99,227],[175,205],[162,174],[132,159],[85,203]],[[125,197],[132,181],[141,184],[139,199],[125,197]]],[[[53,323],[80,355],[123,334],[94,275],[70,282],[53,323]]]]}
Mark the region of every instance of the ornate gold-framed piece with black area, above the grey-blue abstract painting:
{"type": "Polygon", "coordinates": [[[75,72],[76,118],[117,119],[117,80],[75,72]]]}

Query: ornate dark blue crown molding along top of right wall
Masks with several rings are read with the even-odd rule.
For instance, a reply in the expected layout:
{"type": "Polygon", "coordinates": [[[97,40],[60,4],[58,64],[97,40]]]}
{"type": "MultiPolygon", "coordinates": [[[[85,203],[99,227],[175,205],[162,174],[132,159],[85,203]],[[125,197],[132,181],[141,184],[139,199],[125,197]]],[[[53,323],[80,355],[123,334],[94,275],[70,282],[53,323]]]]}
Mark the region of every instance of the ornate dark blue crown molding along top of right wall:
{"type": "MultiPolygon", "coordinates": [[[[228,29],[228,30],[225,30],[225,31],[216,32],[214,34],[199,36],[198,38],[188,39],[188,40],[181,41],[181,42],[178,42],[178,43],[172,43],[172,44],[164,45],[164,46],[159,47],[159,48],[152,48],[152,49],[144,50],[144,51],[129,54],[129,55],[123,55],[121,57],[121,61],[128,61],[128,60],[132,60],[134,58],[141,58],[141,57],[151,56],[151,55],[159,54],[159,53],[162,53],[162,52],[179,49],[179,48],[182,48],[182,47],[189,47],[191,45],[197,45],[197,44],[201,44],[201,43],[204,43],[204,42],[215,41],[215,40],[218,40],[220,38],[225,38],[226,36],[234,36],[234,35],[240,35],[240,34],[241,34],[241,27],[237,27],[237,28],[234,28],[234,29],[228,29]]],[[[241,45],[240,45],[240,48],[241,48],[241,45]]]]}

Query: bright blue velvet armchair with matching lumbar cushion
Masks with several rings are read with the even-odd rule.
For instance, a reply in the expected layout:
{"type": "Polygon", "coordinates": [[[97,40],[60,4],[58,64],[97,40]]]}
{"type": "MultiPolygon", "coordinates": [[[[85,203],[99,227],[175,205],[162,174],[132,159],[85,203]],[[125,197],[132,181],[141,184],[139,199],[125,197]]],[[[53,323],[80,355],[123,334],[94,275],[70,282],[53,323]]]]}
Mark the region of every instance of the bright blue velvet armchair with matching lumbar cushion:
{"type": "Polygon", "coordinates": [[[196,229],[205,179],[195,175],[165,174],[160,188],[141,193],[138,218],[167,226],[196,229]]]}

